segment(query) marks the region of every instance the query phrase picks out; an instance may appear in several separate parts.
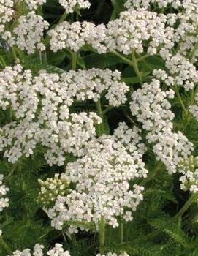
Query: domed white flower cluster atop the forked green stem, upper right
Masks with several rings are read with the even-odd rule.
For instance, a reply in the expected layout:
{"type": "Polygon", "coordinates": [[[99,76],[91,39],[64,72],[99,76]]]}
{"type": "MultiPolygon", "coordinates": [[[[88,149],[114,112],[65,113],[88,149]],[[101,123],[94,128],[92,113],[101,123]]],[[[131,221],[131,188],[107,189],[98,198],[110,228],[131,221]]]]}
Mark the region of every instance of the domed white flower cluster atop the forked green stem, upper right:
{"type": "Polygon", "coordinates": [[[166,15],[145,9],[121,12],[117,20],[107,24],[107,48],[130,54],[132,49],[142,53],[144,46],[148,45],[151,55],[156,54],[161,45],[170,49],[173,46],[173,29],[165,27],[166,20],[166,15]]]}

